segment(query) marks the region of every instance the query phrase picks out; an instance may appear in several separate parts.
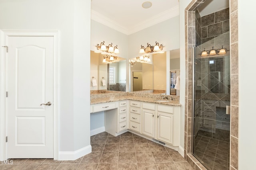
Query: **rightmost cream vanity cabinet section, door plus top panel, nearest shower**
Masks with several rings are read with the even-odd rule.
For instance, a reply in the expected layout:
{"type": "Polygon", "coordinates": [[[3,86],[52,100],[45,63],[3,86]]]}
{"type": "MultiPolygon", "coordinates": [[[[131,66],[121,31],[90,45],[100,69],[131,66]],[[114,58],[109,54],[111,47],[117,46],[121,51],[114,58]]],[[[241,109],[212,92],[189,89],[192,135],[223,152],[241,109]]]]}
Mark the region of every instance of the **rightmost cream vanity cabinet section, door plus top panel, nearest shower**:
{"type": "Polygon", "coordinates": [[[157,106],[157,139],[173,146],[179,145],[180,107],[157,106]]]}

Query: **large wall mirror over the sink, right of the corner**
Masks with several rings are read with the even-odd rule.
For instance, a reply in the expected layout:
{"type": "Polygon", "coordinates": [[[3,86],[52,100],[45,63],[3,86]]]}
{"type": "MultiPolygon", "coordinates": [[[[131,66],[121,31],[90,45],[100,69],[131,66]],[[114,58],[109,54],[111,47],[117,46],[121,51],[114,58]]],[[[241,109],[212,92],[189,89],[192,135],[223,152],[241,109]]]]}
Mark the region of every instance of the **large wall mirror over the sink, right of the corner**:
{"type": "Polygon", "coordinates": [[[139,58],[129,60],[130,92],[179,96],[179,90],[174,87],[180,74],[180,49],[148,56],[150,62],[140,61],[139,58]]]}

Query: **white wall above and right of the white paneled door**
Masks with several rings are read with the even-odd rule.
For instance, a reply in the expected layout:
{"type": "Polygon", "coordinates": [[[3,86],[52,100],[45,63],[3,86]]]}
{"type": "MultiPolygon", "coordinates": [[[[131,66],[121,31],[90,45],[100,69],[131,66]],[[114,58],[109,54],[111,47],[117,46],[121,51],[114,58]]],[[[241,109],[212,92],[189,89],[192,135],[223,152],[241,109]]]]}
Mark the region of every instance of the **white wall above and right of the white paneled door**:
{"type": "Polygon", "coordinates": [[[60,151],[90,146],[90,3],[1,0],[0,29],[58,30],[60,151]]]}

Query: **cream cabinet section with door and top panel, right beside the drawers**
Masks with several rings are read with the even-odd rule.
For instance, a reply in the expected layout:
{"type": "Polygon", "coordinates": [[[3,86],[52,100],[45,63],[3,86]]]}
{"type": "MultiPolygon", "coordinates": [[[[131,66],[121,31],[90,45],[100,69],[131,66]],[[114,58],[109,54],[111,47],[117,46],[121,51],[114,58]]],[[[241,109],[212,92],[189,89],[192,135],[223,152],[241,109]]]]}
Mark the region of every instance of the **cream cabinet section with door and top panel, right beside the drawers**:
{"type": "Polygon", "coordinates": [[[155,138],[156,104],[142,103],[142,134],[155,138]]]}

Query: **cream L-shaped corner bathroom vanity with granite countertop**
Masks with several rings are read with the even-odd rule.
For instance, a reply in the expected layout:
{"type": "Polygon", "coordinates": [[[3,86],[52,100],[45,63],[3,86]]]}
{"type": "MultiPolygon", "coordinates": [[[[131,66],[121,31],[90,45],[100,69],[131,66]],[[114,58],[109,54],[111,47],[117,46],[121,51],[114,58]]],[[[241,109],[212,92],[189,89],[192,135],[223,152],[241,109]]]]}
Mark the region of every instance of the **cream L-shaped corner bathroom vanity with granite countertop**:
{"type": "Polygon", "coordinates": [[[105,131],[113,136],[130,131],[163,145],[178,147],[180,104],[177,100],[153,96],[155,98],[126,92],[123,96],[94,98],[91,99],[90,112],[104,111],[105,131]]]}

